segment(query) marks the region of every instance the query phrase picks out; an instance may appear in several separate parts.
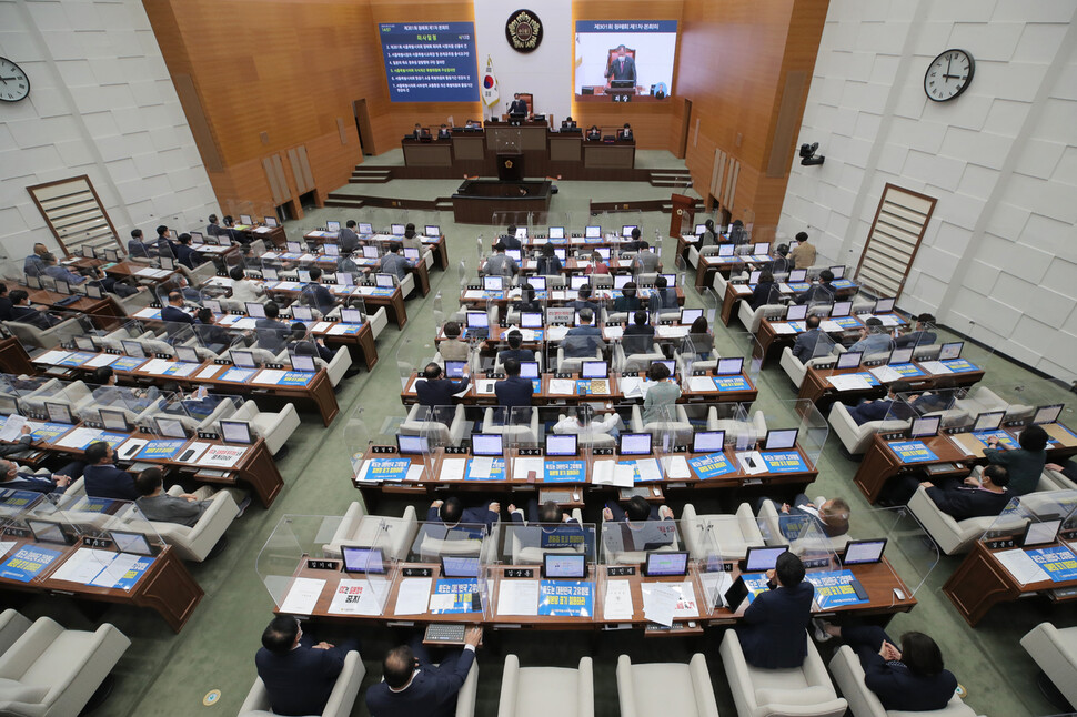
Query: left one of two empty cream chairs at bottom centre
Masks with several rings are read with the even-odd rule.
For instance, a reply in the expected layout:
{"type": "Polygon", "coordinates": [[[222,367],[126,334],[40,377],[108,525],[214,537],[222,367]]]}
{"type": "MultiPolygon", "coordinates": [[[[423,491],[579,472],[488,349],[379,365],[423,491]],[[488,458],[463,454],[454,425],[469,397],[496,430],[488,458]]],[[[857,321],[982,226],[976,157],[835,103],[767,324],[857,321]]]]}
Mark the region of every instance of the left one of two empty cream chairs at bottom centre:
{"type": "Polygon", "coordinates": [[[515,655],[505,657],[499,717],[592,717],[594,709],[590,657],[581,657],[576,668],[521,667],[515,655]]]}

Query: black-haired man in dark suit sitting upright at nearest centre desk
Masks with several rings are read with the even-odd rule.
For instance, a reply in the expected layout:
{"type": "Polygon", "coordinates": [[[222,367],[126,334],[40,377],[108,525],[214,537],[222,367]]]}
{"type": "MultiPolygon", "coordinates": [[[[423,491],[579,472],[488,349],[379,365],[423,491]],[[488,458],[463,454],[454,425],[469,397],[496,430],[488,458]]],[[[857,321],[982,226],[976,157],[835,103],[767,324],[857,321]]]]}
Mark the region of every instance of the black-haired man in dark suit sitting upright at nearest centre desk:
{"type": "Polygon", "coordinates": [[[755,597],[736,626],[741,649],[753,667],[799,667],[807,656],[815,586],[804,579],[804,564],[793,553],[779,555],[767,577],[771,589],[755,597]]]}

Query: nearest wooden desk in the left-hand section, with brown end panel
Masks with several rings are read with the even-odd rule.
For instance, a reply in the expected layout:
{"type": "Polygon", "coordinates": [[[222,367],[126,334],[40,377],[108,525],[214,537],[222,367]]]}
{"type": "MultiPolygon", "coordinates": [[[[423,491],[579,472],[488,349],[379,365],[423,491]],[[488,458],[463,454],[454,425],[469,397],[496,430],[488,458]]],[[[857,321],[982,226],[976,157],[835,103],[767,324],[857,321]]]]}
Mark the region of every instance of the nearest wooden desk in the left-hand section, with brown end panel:
{"type": "MultiPolygon", "coordinates": [[[[32,545],[33,542],[17,538],[16,546],[11,548],[8,556],[14,554],[26,544],[32,545]]],[[[157,610],[175,633],[183,629],[187,620],[190,619],[194,613],[194,608],[198,607],[199,602],[204,595],[202,588],[199,587],[199,584],[194,582],[194,578],[191,577],[191,574],[183,565],[183,561],[175,557],[172,548],[169,546],[164,546],[161,553],[154,556],[153,564],[150,565],[131,590],[94,587],[92,585],[53,579],[50,576],[80,546],[72,545],[62,547],[48,544],[43,547],[53,551],[62,548],[62,555],[53,561],[41,574],[44,576],[43,579],[21,583],[14,579],[0,578],[0,589],[21,593],[43,593],[47,595],[66,595],[74,597],[76,599],[94,603],[115,603],[118,605],[147,607],[157,610]]]]}

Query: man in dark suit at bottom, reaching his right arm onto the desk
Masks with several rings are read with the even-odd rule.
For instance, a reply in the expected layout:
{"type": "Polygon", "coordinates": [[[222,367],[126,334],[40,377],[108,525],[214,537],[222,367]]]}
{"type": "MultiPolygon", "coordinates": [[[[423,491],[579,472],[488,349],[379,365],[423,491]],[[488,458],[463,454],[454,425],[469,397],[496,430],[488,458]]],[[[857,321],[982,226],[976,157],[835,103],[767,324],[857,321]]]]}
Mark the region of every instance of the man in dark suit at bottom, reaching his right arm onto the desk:
{"type": "Polygon", "coordinates": [[[442,658],[441,665],[433,664],[419,638],[390,650],[382,663],[384,681],[366,690],[371,716],[452,717],[481,638],[481,627],[469,627],[464,649],[442,658]]]}

